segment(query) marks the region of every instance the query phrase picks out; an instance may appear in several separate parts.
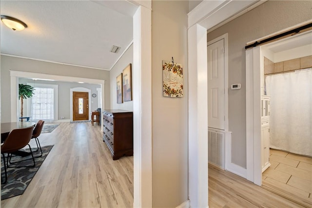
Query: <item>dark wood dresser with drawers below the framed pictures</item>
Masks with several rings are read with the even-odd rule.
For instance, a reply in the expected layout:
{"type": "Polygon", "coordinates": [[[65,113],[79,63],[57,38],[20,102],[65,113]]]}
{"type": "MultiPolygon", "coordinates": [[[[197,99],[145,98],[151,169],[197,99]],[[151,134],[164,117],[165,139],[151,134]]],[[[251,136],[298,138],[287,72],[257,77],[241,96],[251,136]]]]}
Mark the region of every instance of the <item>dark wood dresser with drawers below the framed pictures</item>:
{"type": "Polygon", "coordinates": [[[133,155],[133,112],[123,110],[103,111],[103,141],[113,160],[123,155],[133,155]]]}

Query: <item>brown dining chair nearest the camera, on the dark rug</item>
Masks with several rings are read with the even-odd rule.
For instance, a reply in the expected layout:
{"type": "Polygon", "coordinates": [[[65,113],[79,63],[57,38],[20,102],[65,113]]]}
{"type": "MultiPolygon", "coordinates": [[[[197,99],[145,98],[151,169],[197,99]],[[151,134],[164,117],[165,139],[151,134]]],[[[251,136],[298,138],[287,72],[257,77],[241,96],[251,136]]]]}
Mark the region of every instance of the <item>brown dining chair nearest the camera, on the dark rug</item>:
{"type": "MultiPolygon", "coordinates": [[[[33,152],[30,148],[30,145],[28,144],[32,135],[33,135],[34,127],[28,127],[24,129],[14,129],[12,130],[8,137],[5,139],[3,145],[1,146],[1,154],[3,158],[3,166],[4,166],[4,173],[5,173],[5,181],[1,182],[2,184],[7,182],[7,171],[6,168],[9,167],[9,155],[13,152],[16,152],[22,148],[24,148],[26,145],[29,146],[30,153],[32,155],[34,165],[33,166],[27,166],[27,167],[35,167],[35,158],[33,155],[33,152]],[[5,155],[4,153],[7,153],[7,161],[5,164],[5,155]]],[[[12,166],[11,166],[12,167],[12,166]]],[[[2,179],[2,176],[1,176],[2,179]]]]}

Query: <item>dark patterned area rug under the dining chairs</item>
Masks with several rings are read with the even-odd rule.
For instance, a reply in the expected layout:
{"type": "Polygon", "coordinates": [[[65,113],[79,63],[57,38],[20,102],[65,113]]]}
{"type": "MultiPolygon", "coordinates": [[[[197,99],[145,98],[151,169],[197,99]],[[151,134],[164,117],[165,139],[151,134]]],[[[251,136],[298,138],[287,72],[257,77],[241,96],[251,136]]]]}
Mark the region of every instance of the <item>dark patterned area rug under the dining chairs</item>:
{"type": "MultiPolygon", "coordinates": [[[[42,156],[35,158],[36,166],[35,167],[19,167],[19,168],[7,168],[7,175],[8,175],[8,182],[6,184],[1,184],[1,200],[11,198],[14,196],[18,196],[24,193],[27,186],[35,176],[37,170],[39,170],[41,164],[43,163],[46,156],[49,154],[50,150],[53,148],[54,145],[44,146],[41,147],[42,149],[42,156]]],[[[37,148],[32,148],[32,151],[36,150],[37,148]]],[[[29,151],[29,149],[26,149],[29,151]]],[[[40,150],[33,152],[34,156],[40,155],[40,150]]],[[[6,159],[7,154],[5,154],[6,159]]],[[[15,156],[12,157],[12,162],[20,161],[24,159],[32,158],[31,155],[27,157],[20,157],[15,156]]],[[[16,164],[12,164],[12,166],[27,166],[33,165],[33,160],[25,160],[16,164]]],[[[4,167],[3,167],[3,158],[1,155],[1,180],[4,180],[4,167]]]]}

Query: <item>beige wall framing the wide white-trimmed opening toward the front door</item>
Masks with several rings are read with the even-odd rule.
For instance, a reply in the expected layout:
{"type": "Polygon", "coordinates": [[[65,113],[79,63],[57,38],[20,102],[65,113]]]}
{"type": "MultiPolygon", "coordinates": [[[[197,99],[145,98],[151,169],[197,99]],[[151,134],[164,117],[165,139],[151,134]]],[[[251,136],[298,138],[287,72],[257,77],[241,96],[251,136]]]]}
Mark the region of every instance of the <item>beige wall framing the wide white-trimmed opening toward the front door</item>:
{"type": "Polygon", "coordinates": [[[1,56],[1,123],[11,121],[10,70],[49,75],[104,79],[105,106],[109,108],[109,71],[62,65],[18,57],[1,56]]]}

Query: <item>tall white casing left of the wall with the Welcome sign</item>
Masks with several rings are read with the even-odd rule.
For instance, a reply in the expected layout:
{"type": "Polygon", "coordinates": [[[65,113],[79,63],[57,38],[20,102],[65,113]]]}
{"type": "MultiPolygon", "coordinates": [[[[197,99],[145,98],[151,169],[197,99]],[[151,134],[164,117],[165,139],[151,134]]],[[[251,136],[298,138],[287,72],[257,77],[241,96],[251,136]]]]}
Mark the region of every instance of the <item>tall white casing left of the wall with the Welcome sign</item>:
{"type": "Polygon", "coordinates": [[[134,203],[152,207],[152,40],[151,9],[133,16],[134,203]]]}

